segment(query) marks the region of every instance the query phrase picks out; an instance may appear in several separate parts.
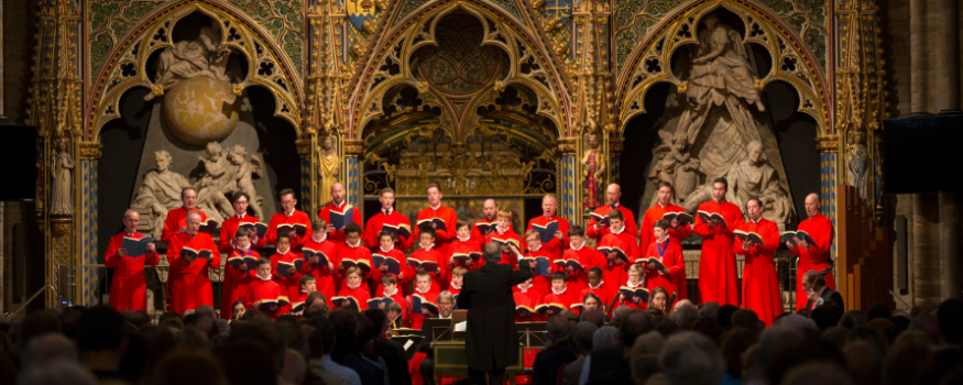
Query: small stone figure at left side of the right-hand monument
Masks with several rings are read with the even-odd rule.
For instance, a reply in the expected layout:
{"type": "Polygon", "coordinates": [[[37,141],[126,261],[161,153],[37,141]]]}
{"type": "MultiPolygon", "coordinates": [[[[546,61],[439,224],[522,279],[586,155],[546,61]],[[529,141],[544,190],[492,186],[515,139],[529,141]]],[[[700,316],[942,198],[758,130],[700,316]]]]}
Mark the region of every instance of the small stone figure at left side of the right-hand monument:
{"type": "MultiPolygon", "coordinates": [[[[655,184],[659,182],[672,184],[675,191],[672,205],[679,205],[699,184],[699,175],[696,170],[699,169],[700,162],[689,154],[689,140],[686,135],[674,135],[665,130],[659,130],[658,134],[663,139],[663,145],[653,153],[660,153],[663,156],[653,165],[648,178],[655,184]]],[[[657,201],[658,196],[653,196],[650,205],[654,206],[657,201]]]]}

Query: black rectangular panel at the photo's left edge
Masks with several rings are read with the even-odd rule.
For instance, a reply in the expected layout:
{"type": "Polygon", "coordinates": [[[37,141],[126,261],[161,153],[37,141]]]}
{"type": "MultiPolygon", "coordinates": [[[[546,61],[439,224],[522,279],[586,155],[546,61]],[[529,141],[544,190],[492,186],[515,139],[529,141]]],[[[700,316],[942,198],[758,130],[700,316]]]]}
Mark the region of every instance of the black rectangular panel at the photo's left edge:
{"type": "Polygon", "coordinates": [[[28,125],[0,127],[3,148],[3,187],[0,200],[33,200],[36,198],[37,140],[36,128],[28,125]]]}

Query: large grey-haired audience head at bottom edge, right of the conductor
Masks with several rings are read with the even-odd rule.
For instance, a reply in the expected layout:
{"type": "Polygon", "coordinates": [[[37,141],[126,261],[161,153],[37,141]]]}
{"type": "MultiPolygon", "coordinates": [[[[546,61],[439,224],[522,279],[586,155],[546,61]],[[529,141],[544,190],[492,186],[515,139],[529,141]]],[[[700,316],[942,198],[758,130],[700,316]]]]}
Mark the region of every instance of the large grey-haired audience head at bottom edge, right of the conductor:
{"type": "Polygon", "coordinates": [[[716,385],[725,374],[719,349],[696,332],[683,331],[670,337],[659,363],[671,385],[716,385]]]}

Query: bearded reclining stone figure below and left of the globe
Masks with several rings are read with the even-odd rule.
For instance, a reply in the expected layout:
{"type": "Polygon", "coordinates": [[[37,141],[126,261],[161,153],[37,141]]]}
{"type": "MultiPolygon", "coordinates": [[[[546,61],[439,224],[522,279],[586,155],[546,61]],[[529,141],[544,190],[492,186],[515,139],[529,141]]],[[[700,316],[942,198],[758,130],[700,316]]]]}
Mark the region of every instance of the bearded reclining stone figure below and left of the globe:
{"type": "MultiPolygon", "coordinates": [[[[131,208],[138,210],[141,216],[150,217],[146,222],[150,222],[151,234],[154,239],[161,239],[167,210],[182,206],[180,189],[191,185],[187,177],[168,169],[174,162],[168,152],[164,150],[155,152],[154,162],[157,169],[144,175],[131,208]]],[[[203,186],[203,182],[193,187],[199,186],[203,186]]]]}

